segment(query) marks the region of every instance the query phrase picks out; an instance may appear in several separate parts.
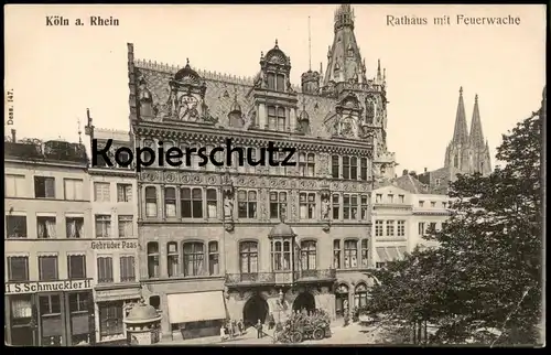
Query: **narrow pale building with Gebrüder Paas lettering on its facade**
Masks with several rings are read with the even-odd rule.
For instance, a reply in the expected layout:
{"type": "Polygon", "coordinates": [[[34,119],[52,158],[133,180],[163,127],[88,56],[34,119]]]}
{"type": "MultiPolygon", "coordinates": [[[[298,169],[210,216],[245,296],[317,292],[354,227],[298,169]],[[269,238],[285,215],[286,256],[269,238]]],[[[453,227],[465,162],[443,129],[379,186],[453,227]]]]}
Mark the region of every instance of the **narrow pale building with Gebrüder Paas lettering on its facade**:
{"type": "MultiPolygon", "coordinates": [[[[128,131],[95,128],[88,111],[85,128],[90,140],[106,144],[132,147],[128,131]]],[[[122,161],[129,155],[121,153],[122,161]]],[[[141,297],[139,280],[138,200],[136,171],[132,165],[120,166],[110,157],[114,166],[99,157],[97,164],[90,165],[90,238],[86,247],[93,257],[95,291],[96,340],[98,343],[126,342],[123,320],[128,305],[141,297]]]]}

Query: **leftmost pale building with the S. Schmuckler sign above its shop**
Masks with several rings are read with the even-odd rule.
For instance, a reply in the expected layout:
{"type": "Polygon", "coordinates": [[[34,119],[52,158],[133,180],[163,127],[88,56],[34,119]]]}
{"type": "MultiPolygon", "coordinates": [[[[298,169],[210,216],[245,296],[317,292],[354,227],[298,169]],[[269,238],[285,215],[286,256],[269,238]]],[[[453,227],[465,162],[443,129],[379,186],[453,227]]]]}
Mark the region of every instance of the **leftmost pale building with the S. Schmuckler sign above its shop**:
{"type": "Polygon", "coordinates": [[[4,140],[8,344],[94,343],[89,179],[82,143],[4,140]]]}

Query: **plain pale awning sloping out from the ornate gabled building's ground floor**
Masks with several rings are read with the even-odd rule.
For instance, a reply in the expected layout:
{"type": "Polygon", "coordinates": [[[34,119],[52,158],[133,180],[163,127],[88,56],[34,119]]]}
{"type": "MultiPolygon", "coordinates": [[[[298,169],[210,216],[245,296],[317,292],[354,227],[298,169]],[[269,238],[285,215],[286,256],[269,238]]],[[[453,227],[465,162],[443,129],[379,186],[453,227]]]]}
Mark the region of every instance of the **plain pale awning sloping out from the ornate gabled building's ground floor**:
{"type": "Polygon", "coordinates": [[[222,291],[169,294],[171,324],[226,319],[222,291]]]}

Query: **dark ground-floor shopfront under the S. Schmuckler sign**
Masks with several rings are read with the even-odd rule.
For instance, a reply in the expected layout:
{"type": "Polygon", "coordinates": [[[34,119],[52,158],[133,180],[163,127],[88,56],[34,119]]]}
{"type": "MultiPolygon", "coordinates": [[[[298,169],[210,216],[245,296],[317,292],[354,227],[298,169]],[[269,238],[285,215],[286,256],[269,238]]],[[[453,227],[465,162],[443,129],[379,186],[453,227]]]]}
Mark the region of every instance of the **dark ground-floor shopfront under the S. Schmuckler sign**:
{"type": "Polygon", "coordinates": [[[11,345],[94,344],[91,280],[7,283],[4,318],[11,345]]]}

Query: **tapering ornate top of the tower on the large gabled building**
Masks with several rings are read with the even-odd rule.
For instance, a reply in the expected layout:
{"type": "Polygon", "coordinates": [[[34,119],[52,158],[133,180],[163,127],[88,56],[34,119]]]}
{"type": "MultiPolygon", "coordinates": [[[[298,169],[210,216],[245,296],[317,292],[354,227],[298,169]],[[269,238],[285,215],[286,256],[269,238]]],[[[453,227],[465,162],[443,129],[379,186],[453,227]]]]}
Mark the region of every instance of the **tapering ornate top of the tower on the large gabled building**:
{"type": "Polygon", "coordinates": [[[323,85],[329,82],[366,83],[359,47],[354,35],[354,10],[342,4],[335,12],[335,37],[327,53],[327,69],[323,85]]]}

